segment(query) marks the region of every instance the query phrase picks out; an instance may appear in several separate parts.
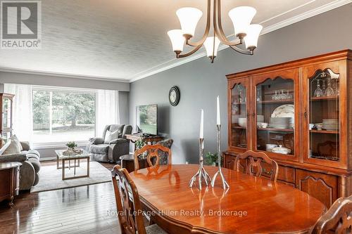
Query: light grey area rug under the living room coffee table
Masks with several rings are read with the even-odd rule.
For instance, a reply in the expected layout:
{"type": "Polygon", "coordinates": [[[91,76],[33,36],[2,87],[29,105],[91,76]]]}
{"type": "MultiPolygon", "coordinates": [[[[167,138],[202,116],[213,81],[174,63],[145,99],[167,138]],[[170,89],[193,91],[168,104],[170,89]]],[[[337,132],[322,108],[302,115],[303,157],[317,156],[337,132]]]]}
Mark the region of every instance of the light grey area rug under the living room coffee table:
{"type": "MultiPolygon", "coordinates": [[[[99,162],[90,162],[89,177],[73,178],[62,180],[61,169],[55,166],[44,166],[39,171],[39,183],[33,186],[30,193],[57,190],[62,188],[73,188],[77,186],[88,186],[95,183],[105,183],[111,181],[111,173],[99,162]]],[[[65,169],[65,176],[73,176],[73,167],[65,169]]],[[[80,167],[76,167],[76,175],[87,174],[87,163],[81,162],[80,167]]]]}

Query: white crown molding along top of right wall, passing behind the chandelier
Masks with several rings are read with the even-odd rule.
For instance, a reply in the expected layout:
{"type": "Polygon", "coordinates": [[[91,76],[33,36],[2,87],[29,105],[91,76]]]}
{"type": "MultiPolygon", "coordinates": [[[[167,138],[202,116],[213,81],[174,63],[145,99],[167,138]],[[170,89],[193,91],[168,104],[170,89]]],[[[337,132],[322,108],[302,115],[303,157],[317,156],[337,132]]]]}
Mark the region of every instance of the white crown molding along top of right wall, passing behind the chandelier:
{"type": "MultiPolygon", "coordinates": [[[[332,1],[329,4],[325,4],[323,6],[315,8],[313,10],[306,11],[305,13],[301,13],[301,14],[295,15],[294,17],[291,17],[291,18],[289,18],[287,20],[282,20],[281,22],[278,22],[278,23],[276,23],[274,25],[270,25],[268,27],[265,27],[260,35],[267,34],[269,32],[273,32],[275,30],[279,30],[280,28],[287,27],[289,25],[294,24],[295,22],[299,22],[301,20],[306,20],[306,19],[311,18],[311,17],[313,17],[315,15],[319,15],[321,13],[325,13],[327,11],[331,11],[334,8],[338,8],[340,6],[344,6],[344,5],[350,4],[350,3],[352,3],[352,0],[335,0],[335,1],[332,1]]],[[[306,5],[307,4],[303,4],[302,6],[306,6],[306,5]]],[[[289,13],[291,11],[294,11],[294,10],[296,10],[299,7],[301,7],[301,6],[298,6],[298,7],[294,8],[294,9],[291,9],[290,11],[287,11],[285,13],[289,13]]],[[[267,20],[265,20],[265,21],[267,21],[267,20]]],[[[230,40],[233,40],[234,39],[234,35],[232,34],[228,38],[230,40]]],[[[221,46],[219,46],[218,51],[222,51],[222,50],[224,50],[225,48],[228,48],[228,47],[229,46],[226,46],[226,45],[222,44],[221,46]]],[[[189,62],[191,62],[193,60],[202,58],[203,56],[206,56],[206,52],[205,51],[203,51],[201,53],[196,53],[194,56],[189,56],[187,58],[182,58],[181,60],[177,59],[177,58],[173,58],[172,60],[169,60],[168,62],[161,63],[160,65],[157,65],[155,67],[151,67],[148,70],[144,70],[143,72],[137,73],[134,77],[132,77],[132,79],[130,79],[130,82],[135,82],[135,81],[137,81],[139,79],[150,77],[153,74],[157,74],[159,72],[163,72],[165,70],[169,70],[172,67],[177,67],[177,66],[183,65],[185,63],[189,63],[189,62]],[[175,61],[175,63],[172,63],[173,61],[175,61]],[[169,64],[169,63],[171,63],[171,64],[169,64]]]]}

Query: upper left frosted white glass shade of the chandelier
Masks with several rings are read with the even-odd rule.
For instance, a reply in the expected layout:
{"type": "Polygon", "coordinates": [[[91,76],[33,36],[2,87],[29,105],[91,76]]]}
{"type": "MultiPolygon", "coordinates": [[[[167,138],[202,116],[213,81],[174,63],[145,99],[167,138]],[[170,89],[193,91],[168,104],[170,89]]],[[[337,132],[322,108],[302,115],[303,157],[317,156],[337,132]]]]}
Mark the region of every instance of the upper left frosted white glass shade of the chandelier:
{"type": "Polygon", "coordinates": [[[176,15],[180,20],[182,34],[193,37],[194,31],[196,31],[196,26],[198,24],[201,15],[203,12],[197,8],[193,7],[184,7],[176,11],[176,15]]]}

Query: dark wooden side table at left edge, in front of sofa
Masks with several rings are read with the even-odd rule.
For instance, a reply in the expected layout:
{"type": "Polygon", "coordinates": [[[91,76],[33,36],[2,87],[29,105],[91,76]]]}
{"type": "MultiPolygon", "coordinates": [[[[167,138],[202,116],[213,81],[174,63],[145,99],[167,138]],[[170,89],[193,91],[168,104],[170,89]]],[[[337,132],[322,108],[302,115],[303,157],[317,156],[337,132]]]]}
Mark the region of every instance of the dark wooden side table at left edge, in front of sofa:
{"type": "Polygon", "coordinates": [[[0,202],[7,200],[13,206],[13,198],[20,190],[20,162],[0,163],[0,202]]]}

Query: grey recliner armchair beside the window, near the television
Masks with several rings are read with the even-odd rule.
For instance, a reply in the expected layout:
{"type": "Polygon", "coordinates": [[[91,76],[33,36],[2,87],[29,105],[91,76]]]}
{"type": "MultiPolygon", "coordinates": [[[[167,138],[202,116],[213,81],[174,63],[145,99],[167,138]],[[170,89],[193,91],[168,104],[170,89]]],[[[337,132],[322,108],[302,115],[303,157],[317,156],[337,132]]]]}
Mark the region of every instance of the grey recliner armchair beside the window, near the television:
{"type": "Polygon", "coordinates": [[[132,125],[111,124],[105,126],[102,137],[90,138],[87,152],[92,154],[91,160],[97,162],[119,162],[120,156],[130,152],[130,141],[126,134],[132,134],[132,125]],[[118,131],[118,138],[104,143],[106,131],[118,131]]]}

